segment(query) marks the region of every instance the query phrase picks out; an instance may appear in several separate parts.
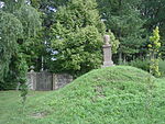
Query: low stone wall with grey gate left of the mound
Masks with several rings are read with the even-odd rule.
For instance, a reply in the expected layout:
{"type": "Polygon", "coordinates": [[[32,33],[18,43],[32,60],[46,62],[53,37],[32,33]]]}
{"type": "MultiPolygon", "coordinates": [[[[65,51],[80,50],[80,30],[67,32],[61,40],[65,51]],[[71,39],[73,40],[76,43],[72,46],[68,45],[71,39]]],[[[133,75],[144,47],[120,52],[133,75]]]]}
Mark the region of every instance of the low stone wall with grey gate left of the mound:
{"type": "Polygon", "coordinates": [[[42,72],[28,72],[28,86],[31,90],[56,90],[63,88],[65,84],[73,81],[73,77],[68,74],[51,74],[47,71],[42,72]]]}

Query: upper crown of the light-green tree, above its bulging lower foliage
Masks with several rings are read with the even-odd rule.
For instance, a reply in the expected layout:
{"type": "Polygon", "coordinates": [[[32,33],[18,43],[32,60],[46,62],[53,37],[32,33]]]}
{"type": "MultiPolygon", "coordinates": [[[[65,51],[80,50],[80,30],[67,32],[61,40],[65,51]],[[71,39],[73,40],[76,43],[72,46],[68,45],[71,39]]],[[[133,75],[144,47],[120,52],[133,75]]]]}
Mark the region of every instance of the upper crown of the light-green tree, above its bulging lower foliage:
{"type": "Polygon", "coordinates": [[[55,19],[69,32],[88,25],[96,26],[100,33],[105,32],[105,25],[100,21],[95,0],[72,0],[66,7],[59,8],[55,19]]]}

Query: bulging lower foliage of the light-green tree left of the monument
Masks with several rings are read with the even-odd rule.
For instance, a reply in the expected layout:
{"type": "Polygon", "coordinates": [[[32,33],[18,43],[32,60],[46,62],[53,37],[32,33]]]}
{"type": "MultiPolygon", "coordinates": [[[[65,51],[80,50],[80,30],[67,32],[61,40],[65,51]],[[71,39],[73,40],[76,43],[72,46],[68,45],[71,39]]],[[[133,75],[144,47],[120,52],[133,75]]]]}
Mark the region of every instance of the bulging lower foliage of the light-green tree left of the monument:
{"type": "Polygon", "coordinates": [[[84,27],[66,36],[67,38],[53,42],[53,48],[59,52],[55,55],[58,69],[86,72],[100,67],[102,40],[95,26],[84,27]]]}

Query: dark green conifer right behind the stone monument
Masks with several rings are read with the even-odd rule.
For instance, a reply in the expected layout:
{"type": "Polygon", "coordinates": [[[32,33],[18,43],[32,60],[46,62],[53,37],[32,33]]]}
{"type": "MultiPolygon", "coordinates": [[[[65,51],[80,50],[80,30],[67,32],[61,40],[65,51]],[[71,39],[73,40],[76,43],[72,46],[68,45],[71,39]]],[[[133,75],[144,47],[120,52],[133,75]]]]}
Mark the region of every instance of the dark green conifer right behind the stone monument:
{"type": "Polygon", "coordinates": [[[98,0],[98,3],[107,29],[120,41],[119,58],[125,60],[127,56],[140,53],[144,42],[144,21],[139,10],[141,0],[98,0]]]}

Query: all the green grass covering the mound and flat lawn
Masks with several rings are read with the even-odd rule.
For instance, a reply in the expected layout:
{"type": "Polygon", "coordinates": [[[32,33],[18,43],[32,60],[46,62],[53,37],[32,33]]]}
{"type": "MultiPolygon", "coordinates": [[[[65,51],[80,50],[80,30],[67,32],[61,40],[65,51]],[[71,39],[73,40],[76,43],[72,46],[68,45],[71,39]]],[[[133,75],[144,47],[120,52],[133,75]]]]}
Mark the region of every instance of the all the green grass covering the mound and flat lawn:
{"type": "Polygon", "coordinates": [[[125,66],[92,70],[57,91],[0,92],[0,124],[165,124],[165,78],[125,66]]]}

